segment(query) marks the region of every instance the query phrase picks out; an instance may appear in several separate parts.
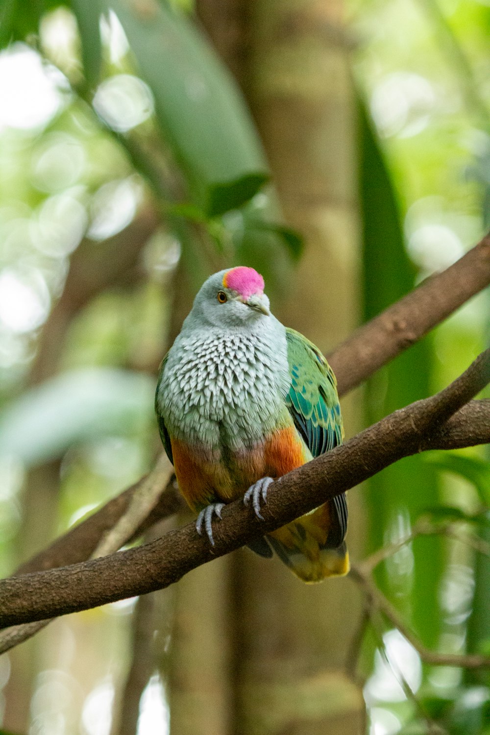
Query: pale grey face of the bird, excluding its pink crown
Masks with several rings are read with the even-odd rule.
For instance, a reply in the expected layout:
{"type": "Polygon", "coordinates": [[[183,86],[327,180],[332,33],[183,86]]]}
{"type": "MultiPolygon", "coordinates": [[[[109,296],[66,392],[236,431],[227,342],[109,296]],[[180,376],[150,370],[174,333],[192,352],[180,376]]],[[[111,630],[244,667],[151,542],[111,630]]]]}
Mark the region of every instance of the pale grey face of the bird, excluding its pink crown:
{"type": "Polygon", "coordinates": [[[223,287],[223,276],[226,272],[227,270],[221,270],[203,283],[186,323],[220,328],[252,327],[260,320],[270,318],[267,296],[253,294],[245,299],[237,291],[223,287]]]}

